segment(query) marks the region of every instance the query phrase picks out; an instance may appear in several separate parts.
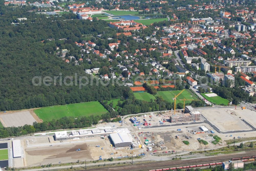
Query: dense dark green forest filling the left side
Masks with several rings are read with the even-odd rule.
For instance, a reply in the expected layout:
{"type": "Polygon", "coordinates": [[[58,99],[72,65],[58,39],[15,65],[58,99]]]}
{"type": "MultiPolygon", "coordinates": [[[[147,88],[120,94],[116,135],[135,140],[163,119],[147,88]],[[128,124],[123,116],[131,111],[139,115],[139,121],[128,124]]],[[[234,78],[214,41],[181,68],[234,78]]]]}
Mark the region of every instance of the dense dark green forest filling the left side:
{"type": "MultiPolygon", "coordinates": [[[[3,1],[0,2],[3,4],[3,1]]],[[[54,38],[55,40],[66,38],[65,47],[78,41],[81,35],[98,35],[105,31],[106,34],[114,31],[107,27],[107,23],[99,20],[90,22],[88,20],[52,21],[51,18],[37,18],[36,14],[26,12],[29,7],[15,9],[0,6],[0,111],[36,108],[42,106],[77,103],[81,101],[110,100],[125,95],[125,87],[116,85],[96,86],[34,86],[32,78],[35,76],[85,76],[84,67],[73,66],[63,62],[52,53],[60,46],[42,40],[54,38]],[[26,13],[25,13],[26,12],[26,13]],[[10,15],[13,14],[14,15],[10,15]],[[27,14],[28,13],[28,14],[27,14]],[[24,24],[13,25],[16,17],[28,16],[24,24]],[[30,16],[31,15],[31,16],[30,16]],[[15,16],[15,17],[14,17],[15,16]]],[[[30,7],[32,8],[32,7],[30,7]]],[[[72,14],[71,14],[72,15],[72,14]]]]}

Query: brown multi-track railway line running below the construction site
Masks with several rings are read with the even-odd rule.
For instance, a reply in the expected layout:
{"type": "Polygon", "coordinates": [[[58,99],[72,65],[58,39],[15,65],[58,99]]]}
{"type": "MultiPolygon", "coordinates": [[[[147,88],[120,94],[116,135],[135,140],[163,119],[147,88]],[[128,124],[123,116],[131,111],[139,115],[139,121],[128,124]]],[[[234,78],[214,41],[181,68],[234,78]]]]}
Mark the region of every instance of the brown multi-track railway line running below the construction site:
{"type": "Polygon", "coordinates": [[[200,159],[186,159],[186,160],[178,160],[178,161],[162,161],[162,162],[151,162],[151,163],[140,163],[133,164],[129,166],[105,166],[94,169],[87,169],[92,171],[102,171],[102,170],[111,170],[111,171],[136,171],[136,170],[151,170],[157,168],[168,168],[168,167],[177,167],[177,166],[186,166],[186,165],[195,165],[195,164],[204,164],[204,163],[212,163],[212,162],[222,162],[231,160],[234,157],[244,157],[244,156],[253,156],[256,154],[256,151],[249,151],[246,154],[227,154],[215,157],[208,158],[200,158],[200,159]]]}

